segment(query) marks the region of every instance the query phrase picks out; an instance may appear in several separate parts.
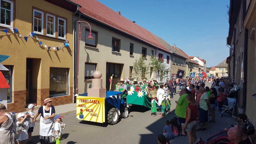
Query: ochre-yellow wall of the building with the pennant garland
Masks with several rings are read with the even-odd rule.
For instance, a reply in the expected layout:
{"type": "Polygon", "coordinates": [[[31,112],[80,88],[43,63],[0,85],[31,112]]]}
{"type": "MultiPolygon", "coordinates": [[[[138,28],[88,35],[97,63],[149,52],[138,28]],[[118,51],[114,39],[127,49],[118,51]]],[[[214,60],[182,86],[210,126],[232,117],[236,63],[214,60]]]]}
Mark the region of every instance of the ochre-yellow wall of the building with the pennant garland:
{"type": "MultiPolygon", "coordinates": [[[[46,1],[14,1],[14,25],[22,36],[27,36],[32,31],[33,8],[37,8],[47,13],[52,13],[67,19],[66,39],[72,40],[72,15],[67,11],[46,1]]],[[[44,19],[45,21],[45,19],[44,19]]],[[[45,28],[45,27],[44,27],[45,28]]],[[[4,27],[0,27],[4,29],[4,27]]],[[[44,31],[46,31],[44,29],[44,31]]],[[[11,56],[2,62],[3,65],[12,65],[12,102],[7,104],[8,111],[21,112],[26,106],[26,66],[27,58],[33,59],[33,99],[37,105],[42,105],[45,98],[49,98],[50,67],[68,68],[68,95],[54,97],[53,105],[72,103],[72,41],[69,47],[58,52],[47,51],[38,42],[28,36],[28,42],[20,38],[18,34],[8,31],[0,31],[0,53],[11,56]],[[65,99],[65,100],[64,100],[65,99]]],[[[58,38],[37,35],[39,40],[49,46],[59,46],[65,42],[58,38]]]]}

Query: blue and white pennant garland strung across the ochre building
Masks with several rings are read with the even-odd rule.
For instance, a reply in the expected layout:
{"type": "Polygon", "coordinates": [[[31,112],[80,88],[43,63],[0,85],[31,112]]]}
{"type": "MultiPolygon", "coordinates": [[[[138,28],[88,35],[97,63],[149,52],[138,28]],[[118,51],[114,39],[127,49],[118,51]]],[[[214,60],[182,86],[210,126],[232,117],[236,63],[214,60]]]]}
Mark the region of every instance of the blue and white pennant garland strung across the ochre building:
{"type": "MultiPolygon", "coordinates": [[[[20,38],[24,38],[26,42],[28,42],[28,37],[29,37],[29,36],[30,36],[31,38],[33,38],[33,37],[35,36],[37,42],[39,43],[39,46],[43,46],[43,44],[44,44],[41,40],[39,40],[39,38],[36,36],[36,34],[35,34],[34,32],[30,32],[30,33],[28,34],[28,36],[22,36],[17,28],[5,28],[5,29],[0,29],[0,31],[4,31],[4,32],[6,33],[6,35],[7,35],[7,30],[8,30],[8,29],[10,29],[13,34],[18,34],[20,38]],[[15,33],[14,33],[14,31],[15,31],[15,33]]],[[[56,50],[55,50],[56,48],[57,48],[57,51],[59,51],[59,50],[60,50],[59,47],[60,47],[61,49],[63,49],[63,45],[64,45],[64,47],[68,47],[68,46],[69,46],[68,39],[66,39],[65,42],[64,42],[63,44],[61,44],[60,46],[52,47],[52,46],[47,46],[47,44],[44,44],[44,47],[45,47],[46,50],[48,49],[48,51],[50,51],[50,50],[51,50],[51,51],[53,51],[53,50],[56,51],[56,50]],[[52,48],[53,50],[52,50],[51,48],[52,48]]]]}

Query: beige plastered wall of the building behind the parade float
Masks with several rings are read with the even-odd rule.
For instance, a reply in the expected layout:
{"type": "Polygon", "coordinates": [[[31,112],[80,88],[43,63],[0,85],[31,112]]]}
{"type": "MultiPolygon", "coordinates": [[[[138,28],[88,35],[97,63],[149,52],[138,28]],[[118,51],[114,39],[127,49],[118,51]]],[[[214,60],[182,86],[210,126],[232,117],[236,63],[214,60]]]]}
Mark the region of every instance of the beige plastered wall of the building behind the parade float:
{"type": "MultiPolygon", "coordinates": [[[[84,19],[80,19],[81,21],[87,21],[84,19]]],[[[135,59],[138,59],[142,53],[142,47],[147,49],[147,57],[145,58],[145,62],[150,62],[151,50],[154,51],[154,55],[156,54],[156,49],[154,47],[148,46],[146,44],[142,44],[139,41],[128,38],[124,35],[118,34],[114,31],[111,31],[107,28],[96,25],[92,22],[89,22],[91,25],[92,31],[97,32],[97,46],[85,46],[85,31],[82,30],[82,40],[80,41],[80,52],[79,52],[79,79],[78,79],[78,89],[79,93],[87,92],[87,88],[92,84],[91,80],[84,80],[85,75],[85,62],[88,63],[96,63],[96,70],[102,73],[102,87],[106,88],[106,80],[108,82],[108,78],[106,77],[106,63],[118,63],[122,64],[121,70],[121,78],[129,77],[130,71],[129,68],[133,67],[133,63],[135,59]],[[112,38],[116,38],[120,40],[120,52],[112,52],[112,38]],[[130,55],[130,43],[133,44],[133,55],[130,55]]],[[[81,27],[83,24],[81,24],[81,27]]],[[[76,29],[78,29],[78,24],[76,25],[76,29]]],[[[76,37],[78,37],[78,31],[76,32],[76,37]]],[[[77,39],[76,39],[77,41],[77,39]]],[[[76,47],[78,47],[76,43],[76,47]]],[[[77,51],[77,50],[76,50],[77,51]]],[[[164,51],[162,51],[164,52],[164,51]]],[[[166,54],[164,53],[164,59],[166,61],[166,54]]],[[[171,59],[171,57],[170,57],[171,59]]],[[[149,68],[150,71],[150,68],[149,68]]],[[[133,81],[133,77],[130,77],[130,83],[133,81]]],[[[154,72],[146,75],[147,79],[155,78],[154,72]]],[[[113,81],[112,81],[113,85],[113,81]]],[[[107,88],[108,90],[109,88],[107,88]]]]}

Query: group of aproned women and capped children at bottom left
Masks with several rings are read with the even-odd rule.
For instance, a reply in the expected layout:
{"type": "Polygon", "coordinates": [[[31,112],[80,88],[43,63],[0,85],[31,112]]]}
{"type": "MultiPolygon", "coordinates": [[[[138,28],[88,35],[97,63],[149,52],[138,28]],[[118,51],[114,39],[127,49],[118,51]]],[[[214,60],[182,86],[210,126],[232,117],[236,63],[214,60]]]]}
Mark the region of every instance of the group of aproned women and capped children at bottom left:
{"type": "Polygon", "coordinates": [[[26,114],[8,112],[5,105],[0,103],[0,143],[1,144],[33,144],[31,141],[36,118],[40,116],[40,143],[50,144],[56,141],[60,144],[62,130],[65,127],[63,116],[55,115],[55,108],[52,106],[52,100],[44,100],[38,112],[34,113],[34,104],[28,105],[26,114]],[[54,121],[55,120],[55,121],[54,121]]]}

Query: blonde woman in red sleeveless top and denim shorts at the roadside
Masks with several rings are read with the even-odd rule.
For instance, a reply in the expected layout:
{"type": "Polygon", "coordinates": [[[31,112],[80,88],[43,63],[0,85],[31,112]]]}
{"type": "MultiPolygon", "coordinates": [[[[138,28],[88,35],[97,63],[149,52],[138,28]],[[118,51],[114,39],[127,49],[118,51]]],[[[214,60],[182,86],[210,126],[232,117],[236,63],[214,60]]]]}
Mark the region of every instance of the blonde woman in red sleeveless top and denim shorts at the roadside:
{"type": "Polygon", "coordinates": [[[188,94],[186,99],[189,103],[186,111],[185,129],[188,134],[188,143],[193,144],[196,141],[196,116],[197,106],[195,100],[193,100],[192,94],[188,94]]]}

